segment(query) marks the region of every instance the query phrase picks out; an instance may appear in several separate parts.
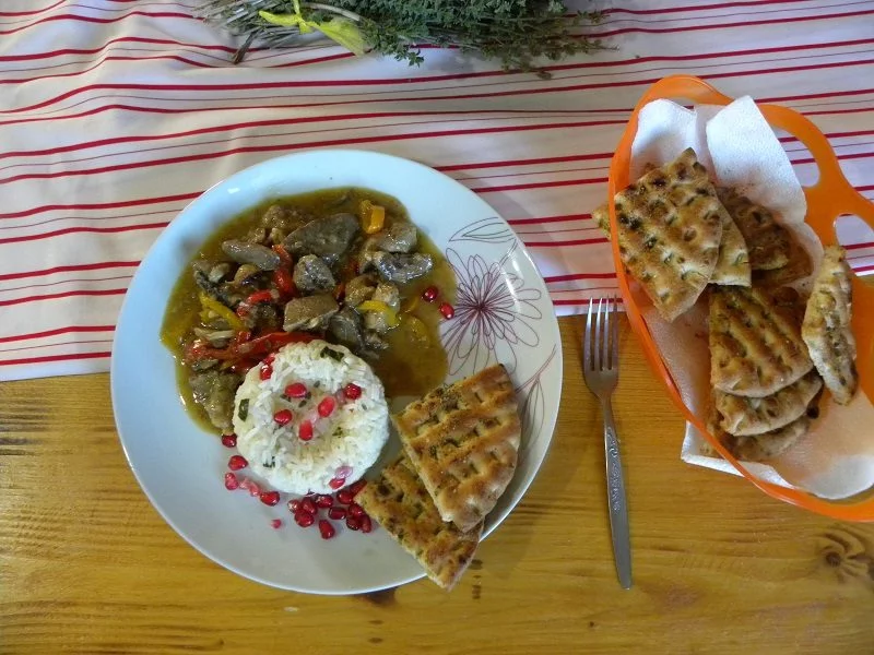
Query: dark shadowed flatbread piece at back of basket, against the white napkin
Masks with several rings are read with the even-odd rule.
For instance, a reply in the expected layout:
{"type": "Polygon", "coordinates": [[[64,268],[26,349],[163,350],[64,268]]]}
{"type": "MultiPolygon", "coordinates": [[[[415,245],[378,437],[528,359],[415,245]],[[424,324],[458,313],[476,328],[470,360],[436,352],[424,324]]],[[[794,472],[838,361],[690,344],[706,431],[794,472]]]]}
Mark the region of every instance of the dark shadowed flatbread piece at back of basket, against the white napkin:
{"type": "Polygon", "coordinates": [[[717,196],[746,241],[753,271],[780,269],[789,263],[789,231],[767,207],[727,187],[717,187],[717,196]]]}

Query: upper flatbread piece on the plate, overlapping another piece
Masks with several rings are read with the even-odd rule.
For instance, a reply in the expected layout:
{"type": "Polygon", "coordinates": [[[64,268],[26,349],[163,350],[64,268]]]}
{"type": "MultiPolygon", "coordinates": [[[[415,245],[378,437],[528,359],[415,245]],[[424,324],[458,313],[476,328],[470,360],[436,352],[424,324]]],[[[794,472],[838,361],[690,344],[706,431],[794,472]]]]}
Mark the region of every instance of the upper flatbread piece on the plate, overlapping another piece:
{"type": "Polygon", "coordinates": [[[507,370],[496,365],[435,389],[392,420],[440,516],[472,529],[516,471],[522,428],[507,370]]]}

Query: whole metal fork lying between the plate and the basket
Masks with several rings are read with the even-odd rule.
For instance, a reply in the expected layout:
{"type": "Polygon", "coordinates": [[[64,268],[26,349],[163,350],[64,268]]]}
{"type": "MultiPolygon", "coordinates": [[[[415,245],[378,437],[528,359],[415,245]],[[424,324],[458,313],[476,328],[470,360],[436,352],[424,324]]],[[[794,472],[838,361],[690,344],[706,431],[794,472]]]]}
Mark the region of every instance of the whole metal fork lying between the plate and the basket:
{"type": "Polygon", "coordinates": [[[613,558],[623,588],[631,588],[631,539],[628,534],[628,502],[619,457],[619,442],[613,424],[611,397],[619,378],[619,320],[616,296],[589,302],[582,340],[582,372],[589,390],[601,401],[604,416],[604,455],[607,465],[607,504],[613,558]],[[595,302],[598,309],[593,310],[595,302]]]}

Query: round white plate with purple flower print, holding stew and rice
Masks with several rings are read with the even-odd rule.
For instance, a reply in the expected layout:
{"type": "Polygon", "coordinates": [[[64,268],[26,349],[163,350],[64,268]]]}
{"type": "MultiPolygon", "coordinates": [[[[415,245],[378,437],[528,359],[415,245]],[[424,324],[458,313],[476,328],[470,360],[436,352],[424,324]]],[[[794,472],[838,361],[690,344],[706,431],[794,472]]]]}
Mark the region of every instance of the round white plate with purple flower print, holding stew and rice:
{"type": "MultiPolygon", "coordinates": [[[[491,533],[522,498],[552,439],[562,395],[562,343],[543,278],[507,223],[454,180],[421,164],[362,151],[270,159],[208,190],[164,230],[131,282],[113,347],[116,425],[133,474],[173,528],[206,557],[285,590],[355,594],[397,586],[422,569],[385,531],[331,540],[300,529],[282,502],[269,508],[225,490],[231,451],[179,402],[174,360],[158,333],[187,262],[228,218],[268,198],[366,187],[400,200],[458,275],[456,317],[442,324],[447,381],[504,362],[520,398],[516,475],[489,514],[491,533]],[[270,520],[283,519],[274,531],[270,520]]],[[[343,527],[342,529],[345,529],[343,527]]]]}

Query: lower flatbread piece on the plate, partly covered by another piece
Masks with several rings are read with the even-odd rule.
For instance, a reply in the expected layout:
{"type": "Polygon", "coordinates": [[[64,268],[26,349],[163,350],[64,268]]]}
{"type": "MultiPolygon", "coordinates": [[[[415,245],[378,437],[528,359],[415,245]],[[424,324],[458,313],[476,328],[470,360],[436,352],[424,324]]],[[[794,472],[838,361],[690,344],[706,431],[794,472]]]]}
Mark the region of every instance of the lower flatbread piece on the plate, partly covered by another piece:
{"type": "Polygon", "coordinates": [[[445,590],[456,585],[476,552],[483,524],[462,533],[445,523],[404,453],[362,489],[355,502],[445,590]]]}

